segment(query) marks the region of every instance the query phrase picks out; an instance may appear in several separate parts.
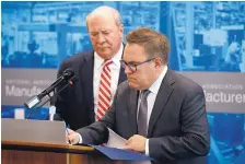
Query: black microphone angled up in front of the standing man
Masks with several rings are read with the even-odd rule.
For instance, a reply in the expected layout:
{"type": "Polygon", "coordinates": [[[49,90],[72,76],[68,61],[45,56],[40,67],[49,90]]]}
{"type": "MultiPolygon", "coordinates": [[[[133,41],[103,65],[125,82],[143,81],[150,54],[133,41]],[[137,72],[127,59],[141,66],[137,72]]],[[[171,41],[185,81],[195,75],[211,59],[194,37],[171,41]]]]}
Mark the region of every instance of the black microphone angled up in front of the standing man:
{"type": "MultiPolygon", "coordinates": [[[[49,93],[55,91],[55,89],[61,84],[70,83],[72,85],[72,80],[74,79],[74,71],[71,68],[66,69],[62,74],[46,90],[44,90],[42,93],[39,93],[36,96],[33,96],[31,99],[28,99],[26,103],[24,103],[24,106],[28,109],[35,107],[37,104],[40,103],[42,98],[46,95],[49,96],[49,93]]],[[[49,96],[50,97],[50,96],[49,96]]]]}

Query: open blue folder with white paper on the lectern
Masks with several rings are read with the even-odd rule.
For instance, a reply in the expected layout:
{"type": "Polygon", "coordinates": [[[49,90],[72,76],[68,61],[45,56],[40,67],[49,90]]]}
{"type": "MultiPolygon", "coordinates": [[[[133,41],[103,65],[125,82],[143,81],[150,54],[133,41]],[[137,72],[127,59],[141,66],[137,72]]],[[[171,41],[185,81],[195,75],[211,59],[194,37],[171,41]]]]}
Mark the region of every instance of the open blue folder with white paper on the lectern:
{"type": "Polygon", "coordinates": [[[151,157],[141,154],[139,152],[122,150],[126,145],[126,139],[118,136],[112,129],[108,128],[109,139],[105,147],[91,145],[97,151],[105,154],[112,160],[127,160],[130,164],[151,164],[151,157]]]}

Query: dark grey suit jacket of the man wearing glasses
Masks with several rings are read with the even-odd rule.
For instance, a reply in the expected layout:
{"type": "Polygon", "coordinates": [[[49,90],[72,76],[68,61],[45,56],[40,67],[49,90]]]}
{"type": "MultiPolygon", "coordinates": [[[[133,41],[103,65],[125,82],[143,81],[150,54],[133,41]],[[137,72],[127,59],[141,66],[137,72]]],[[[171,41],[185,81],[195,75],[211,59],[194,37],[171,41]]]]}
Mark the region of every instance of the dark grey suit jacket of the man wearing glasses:
{"type": "MultiPolygon", "coordinates": [[[[78,130],[83,143],[106,142],[106,127],[125,139],[136,134],[138,95],[127,81],[121,83],[105,117],[78,130]]],[[[148,139],[150,156],[158,163],[205,164],[210,132],[201,86],[168,69],[152,109],[148,139]]]]}

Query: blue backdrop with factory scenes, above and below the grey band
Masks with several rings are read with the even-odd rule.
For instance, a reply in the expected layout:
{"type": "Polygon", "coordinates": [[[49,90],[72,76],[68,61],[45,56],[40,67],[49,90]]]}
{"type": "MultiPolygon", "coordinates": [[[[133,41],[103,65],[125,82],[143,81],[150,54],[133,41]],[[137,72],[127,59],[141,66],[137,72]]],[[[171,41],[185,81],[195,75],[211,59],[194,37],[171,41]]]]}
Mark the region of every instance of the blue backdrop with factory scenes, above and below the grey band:
{"type": "MultiPolygon", "coordinates": [[[[138,26],[164,33],[171,40],[172,69],[244,75],[245,2],[242,1],[1,2],[2,71],[57,69],[65,58],[91,49],[85,16],[102,4],[119,10],[125,34],[138,26]]],[[[1,117],[14,117],[15,108],[24,107],[3,103],[1,117]]],[[[48,109],[42,108],[32,118],[47,116],[48,109]]],[[[212,141],[208,163],[244,164],[245,115],[233,114],[231,109],[231,113],[209,113],[208,118],[212,141]]]]}

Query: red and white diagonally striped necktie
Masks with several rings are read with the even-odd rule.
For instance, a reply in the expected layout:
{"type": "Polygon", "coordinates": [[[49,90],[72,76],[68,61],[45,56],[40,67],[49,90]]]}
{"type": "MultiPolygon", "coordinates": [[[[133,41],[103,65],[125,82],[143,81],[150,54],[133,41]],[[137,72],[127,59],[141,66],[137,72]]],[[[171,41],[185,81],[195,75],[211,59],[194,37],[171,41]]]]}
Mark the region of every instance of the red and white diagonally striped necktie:
{"type": "Polygon", "coordinates": [[[105,62],[102,73],[101,73],[101,81],[98,85],[98,102],[97,102],[97,110],[96,110],[96,120],[100,120],[106,113],[106,110],[110,106],[110,97],[112,97],[112,91],[110,91],[110,69],[109,65],[112,65],[113,61],[108,60],[105,62]]]}

